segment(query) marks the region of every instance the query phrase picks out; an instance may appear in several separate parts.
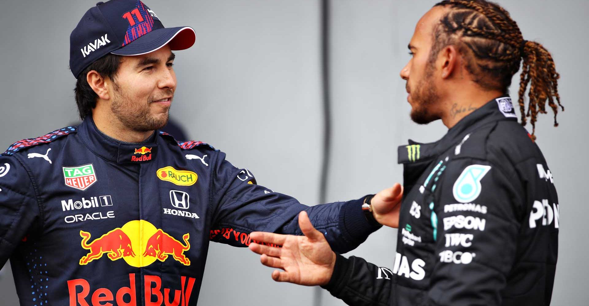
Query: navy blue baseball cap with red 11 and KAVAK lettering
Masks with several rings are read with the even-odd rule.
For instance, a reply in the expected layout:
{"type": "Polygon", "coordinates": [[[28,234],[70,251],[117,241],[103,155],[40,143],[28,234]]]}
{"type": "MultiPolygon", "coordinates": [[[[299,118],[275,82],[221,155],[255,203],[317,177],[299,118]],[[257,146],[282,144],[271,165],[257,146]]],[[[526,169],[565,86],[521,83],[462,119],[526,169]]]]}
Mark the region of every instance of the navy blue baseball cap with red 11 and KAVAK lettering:
{"type": "Polygon", "coordinates": [[[195,40],[193,28],[164,28],[154,11],[139,0],[98,2],[70,35],[70,69],[78,78],[82,70],[108,53],[141,55],[165,45],[183,50],[195,40]]]}

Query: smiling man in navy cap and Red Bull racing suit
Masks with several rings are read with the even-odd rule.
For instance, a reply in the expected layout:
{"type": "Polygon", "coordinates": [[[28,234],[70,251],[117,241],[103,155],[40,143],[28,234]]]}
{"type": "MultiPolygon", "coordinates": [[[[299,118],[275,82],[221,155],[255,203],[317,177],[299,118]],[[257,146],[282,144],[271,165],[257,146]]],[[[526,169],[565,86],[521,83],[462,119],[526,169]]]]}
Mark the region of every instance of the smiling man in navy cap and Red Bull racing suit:
{"type": "Polygon", "coordinates": [[[346,252],[398,218],[399,185],[371,214],[364,197],[307,207],[209,144],[158,131],[176,90],[172,51],[194,41],[131,0],[99,2],[72,31],[84,121],[0,155],[0,265],[10,258],[21,305],[196,305],[209,241],[299,234],[304,210],[346,252]]]}

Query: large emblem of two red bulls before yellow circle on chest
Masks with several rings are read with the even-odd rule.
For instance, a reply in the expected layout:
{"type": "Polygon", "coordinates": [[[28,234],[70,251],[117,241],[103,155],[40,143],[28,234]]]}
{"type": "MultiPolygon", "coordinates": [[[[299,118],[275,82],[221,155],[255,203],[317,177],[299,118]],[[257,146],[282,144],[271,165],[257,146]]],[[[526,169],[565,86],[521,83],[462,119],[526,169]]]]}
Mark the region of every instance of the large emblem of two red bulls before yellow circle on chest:
{"type": "Polygon", "coordinates": [[[91,243],[88,243],[90,233],[80,231],[80,236],[82,248],[90,250],[88,254],[80,258],[80,265],[87,265],[98,260],[104,254],[113,261],[123,258],[133,267],[145,267],[154,263],[155,260],[166,261],[169,255],[181,264],[190,265],[190,260],[184,255],[184,251],[190,250],[190,243],[188,243],[190,234],[184,234],[183,243],[181,243],[161,228],[155,228],[153,224],[145,220],[129,221],[91,243]]]}

